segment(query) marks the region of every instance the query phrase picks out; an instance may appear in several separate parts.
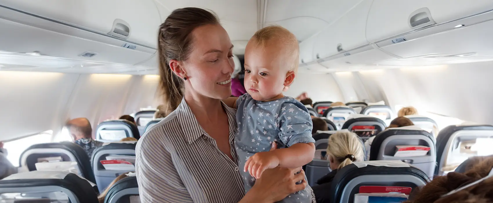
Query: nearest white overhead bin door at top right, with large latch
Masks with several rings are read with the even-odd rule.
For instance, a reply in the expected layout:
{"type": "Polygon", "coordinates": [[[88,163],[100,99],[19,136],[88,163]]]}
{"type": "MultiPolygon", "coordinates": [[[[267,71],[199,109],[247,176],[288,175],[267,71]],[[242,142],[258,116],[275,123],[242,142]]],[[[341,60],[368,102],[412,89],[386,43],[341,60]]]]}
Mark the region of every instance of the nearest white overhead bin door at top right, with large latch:
{"type": "Polygon", "coordinates": [[[492,0],[374,0],[366,37],[377,42],[493,9],[492,0]]]}

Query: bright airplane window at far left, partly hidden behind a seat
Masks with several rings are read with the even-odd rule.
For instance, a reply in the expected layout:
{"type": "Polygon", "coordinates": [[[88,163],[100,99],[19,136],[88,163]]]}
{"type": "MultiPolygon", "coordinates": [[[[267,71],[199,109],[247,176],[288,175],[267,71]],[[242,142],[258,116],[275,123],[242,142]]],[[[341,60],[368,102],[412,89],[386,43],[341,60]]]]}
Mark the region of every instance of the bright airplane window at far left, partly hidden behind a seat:
{"type": "Polygon", "coordinates": [[[53,136],[53,131],[45,131],[37,135],[24,137],[21,139],[16,139],[13,141],[5,142],[3,147],[7,149],[7,159],[14,165],[14,167],[19,167],[19,159],[22,152],[28,147],[38,143],[51,142],[51,137],[53,136]]]}

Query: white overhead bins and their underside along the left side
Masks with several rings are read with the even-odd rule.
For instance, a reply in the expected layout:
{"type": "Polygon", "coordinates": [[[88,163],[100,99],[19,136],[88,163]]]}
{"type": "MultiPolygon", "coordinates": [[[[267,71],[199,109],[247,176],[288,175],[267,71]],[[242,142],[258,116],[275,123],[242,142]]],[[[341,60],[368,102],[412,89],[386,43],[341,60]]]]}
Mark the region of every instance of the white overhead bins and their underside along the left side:
{"type": "Polygon", "coordinates": [[[152,1],[0,0],[0,50],[135,65],[156,52],[160,22],[152,1]]]}

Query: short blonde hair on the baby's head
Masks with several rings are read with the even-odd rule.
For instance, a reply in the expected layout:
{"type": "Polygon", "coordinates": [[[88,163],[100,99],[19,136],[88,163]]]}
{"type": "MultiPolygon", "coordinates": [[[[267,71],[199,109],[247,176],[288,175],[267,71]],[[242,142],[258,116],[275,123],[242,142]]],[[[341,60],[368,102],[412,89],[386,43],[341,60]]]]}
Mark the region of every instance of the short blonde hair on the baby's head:
{"type": "Polygon", "coordinates": [[[283,46],[283,54],[286,54],[286,67],[289,71],[298,72],[300,47],[296,36],[287,29],[271,25],[255,32],[252,36],[257,42],[257,46],[265,47],[268,43],[274,42],[283,46]]]}

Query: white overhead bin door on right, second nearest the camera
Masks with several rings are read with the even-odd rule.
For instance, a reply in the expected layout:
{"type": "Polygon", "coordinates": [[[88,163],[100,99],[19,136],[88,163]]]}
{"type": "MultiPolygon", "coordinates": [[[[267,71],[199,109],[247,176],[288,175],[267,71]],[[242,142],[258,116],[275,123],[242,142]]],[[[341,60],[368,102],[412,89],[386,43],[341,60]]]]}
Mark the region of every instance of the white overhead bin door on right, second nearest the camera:
{"type": "Polygon", "coordinates": [[[369,42],[366,40],[366,16],[373,0],[363,0],[316,36],[316,59],[334,56],[369,42]]]}

